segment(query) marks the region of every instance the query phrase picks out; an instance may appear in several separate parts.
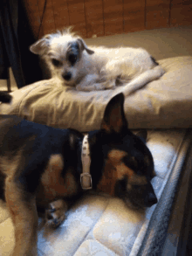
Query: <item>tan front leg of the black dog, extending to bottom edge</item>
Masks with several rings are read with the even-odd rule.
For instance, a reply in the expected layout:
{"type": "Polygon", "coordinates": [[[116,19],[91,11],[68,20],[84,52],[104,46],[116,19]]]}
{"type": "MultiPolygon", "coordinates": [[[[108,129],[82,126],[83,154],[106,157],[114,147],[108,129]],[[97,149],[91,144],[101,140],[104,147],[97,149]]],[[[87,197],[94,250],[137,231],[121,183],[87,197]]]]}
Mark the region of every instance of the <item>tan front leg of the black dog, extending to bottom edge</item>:
{"type": "Polygon", "coordinates": [[[12,256],[38,255],[38,213],[35,195],[23,190],[15,178],[7,177],[5,197],[15,228],[15,247],[12,256]]]}

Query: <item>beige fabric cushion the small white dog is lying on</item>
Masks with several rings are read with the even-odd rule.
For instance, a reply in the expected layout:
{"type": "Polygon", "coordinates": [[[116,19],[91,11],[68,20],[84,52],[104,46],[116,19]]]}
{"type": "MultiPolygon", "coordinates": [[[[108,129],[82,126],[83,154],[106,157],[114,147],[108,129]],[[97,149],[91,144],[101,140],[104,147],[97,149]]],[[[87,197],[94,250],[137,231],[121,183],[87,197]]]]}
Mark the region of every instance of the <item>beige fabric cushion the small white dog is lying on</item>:
{"type": "MultiPolygon", "coordinates": [[[[166,70],[161,79],[126,98],[129,128],[192,127],[192,57],[162,59],[159,63],[166,70]]],[[[123,89],[78,92],[55,86],[54,80],[43,80],[12,93],[12,103],[2,104],[0,113],[86,132],[99,129],[106,103],[123,89]]]]}

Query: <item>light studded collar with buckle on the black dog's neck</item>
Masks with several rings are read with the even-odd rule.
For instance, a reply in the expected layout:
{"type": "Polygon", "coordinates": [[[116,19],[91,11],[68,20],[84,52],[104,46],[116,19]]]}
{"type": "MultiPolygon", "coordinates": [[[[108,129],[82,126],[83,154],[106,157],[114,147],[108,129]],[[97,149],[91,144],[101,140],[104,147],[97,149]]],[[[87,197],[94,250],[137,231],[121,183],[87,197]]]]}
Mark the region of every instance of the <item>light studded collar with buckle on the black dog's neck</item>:
{"type": "Polygon", "coordinates": [[[80,175],[80,183],[83,190],[91,190],[92,189],[92,176],[90,175],[90,151],[89,151],[89,143],[88,143],[88,135],[84,136],[82,142],[82,150],[81,150],[81,162],[83,172],[80,175]]]}

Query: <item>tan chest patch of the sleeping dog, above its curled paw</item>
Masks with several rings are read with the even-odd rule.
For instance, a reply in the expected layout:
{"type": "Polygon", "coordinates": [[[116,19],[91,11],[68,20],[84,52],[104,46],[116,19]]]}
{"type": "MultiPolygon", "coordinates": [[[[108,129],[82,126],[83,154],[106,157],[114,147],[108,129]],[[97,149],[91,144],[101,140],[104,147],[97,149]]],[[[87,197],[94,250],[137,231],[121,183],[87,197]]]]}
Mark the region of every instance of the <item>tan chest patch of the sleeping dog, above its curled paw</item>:
{"type": "Polygon", "coordinates": [[[47,168],[41,177],[38,188],[37,201],[39,204],[47,204],[60,197],[70,197],[78,192],[78,184],[71,170],[64,170],[64,160],[59,154],[51,155],[47,168]]]}

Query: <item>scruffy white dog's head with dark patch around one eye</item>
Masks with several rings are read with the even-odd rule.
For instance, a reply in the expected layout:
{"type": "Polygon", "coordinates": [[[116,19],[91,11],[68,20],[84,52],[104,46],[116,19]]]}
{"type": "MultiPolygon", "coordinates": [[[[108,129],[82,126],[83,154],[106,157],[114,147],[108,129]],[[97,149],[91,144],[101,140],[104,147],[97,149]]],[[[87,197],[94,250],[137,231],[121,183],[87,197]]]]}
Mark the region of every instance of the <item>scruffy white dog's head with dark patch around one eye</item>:
{"type": "Polygon", "coordinates": [[[67,86],[75,86],[79,80],[84,51],[88,54],[94,53],[70,29],[46,35],[31,45],[30,50],[45,59],[51,76],[62,80],[67,86]]]}

